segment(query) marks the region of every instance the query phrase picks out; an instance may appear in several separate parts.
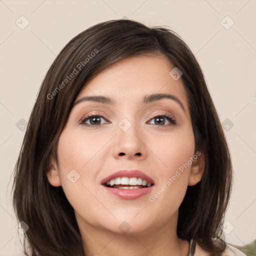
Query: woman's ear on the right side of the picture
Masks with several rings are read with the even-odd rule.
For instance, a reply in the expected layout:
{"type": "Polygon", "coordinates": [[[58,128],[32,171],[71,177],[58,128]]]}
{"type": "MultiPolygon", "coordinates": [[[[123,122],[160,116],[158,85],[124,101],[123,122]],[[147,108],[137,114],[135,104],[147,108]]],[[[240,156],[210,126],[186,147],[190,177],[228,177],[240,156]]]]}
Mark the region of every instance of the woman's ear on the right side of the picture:
{"type": "Polygon", "coordinates": [[[193,163],[191,166],[191,170],[188,178],[189,186],[193,186],[201,180],[201,177],[204,171],[204,165],[205,165],[205,158],[202,152],[197,151],[196,154],[194,155],[197,155],[197,158],[193,160],[193,163]]]}

